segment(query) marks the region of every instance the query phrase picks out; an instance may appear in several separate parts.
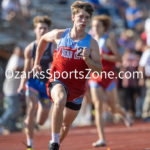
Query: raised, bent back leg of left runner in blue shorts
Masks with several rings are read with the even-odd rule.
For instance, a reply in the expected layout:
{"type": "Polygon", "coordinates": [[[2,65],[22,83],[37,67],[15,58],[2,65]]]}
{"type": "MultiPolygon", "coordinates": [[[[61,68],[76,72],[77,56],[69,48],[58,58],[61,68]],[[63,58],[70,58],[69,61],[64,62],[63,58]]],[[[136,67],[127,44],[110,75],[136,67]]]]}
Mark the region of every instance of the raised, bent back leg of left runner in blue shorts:
{"type": "Polygon", "coordinates": [[[49,111],[50,111],[50,106],[51,104],[50,104],[49,99],[41,98],[40,101],[38,102],[36,122],[39,125],[43,125],[45,121],[47,120],[49,111]]]}

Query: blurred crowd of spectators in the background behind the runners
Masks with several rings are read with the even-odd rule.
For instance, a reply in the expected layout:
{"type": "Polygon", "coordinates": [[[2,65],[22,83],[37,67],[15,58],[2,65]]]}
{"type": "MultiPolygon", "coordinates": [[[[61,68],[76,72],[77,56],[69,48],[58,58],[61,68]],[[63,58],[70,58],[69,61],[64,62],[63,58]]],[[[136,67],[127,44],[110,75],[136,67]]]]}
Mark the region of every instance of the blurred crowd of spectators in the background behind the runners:
{"type": "MultiPolygon", "coordinates": [[[[116,39],[119,51],[122,54],[122,63],[116,64],[116,70],[118,72],[130,71],[131,73],[141,71],[144,74],[143,78],[118,79],[120,104],[133,119],[142,118],[144,122],[150,122],[150,1],[88,1],[95,7],[95,15],[107,14],[111,16],[112,27],[109,32],[116,39]]],[[[32,17],[30,0],[1,0],[0,4],[1,20],[9,22],[15,20],[17,24],[22,19],[24,20],[24,18],[32,17]]],[[[62,4],[68,5],[68,1],[60,0],[60,7],[62,4]]],[[[24,28],[24,30],[26,29],[24,28]]],[[[23,56],[20,54],[23,53],[23,50],[19,52],[19,49],[21,47],[15,48],[14,53],[8,61],[6,70],[9,67],[13,67],[13,70],[23,69],[23,56]]],[[[24,117],[24,113],[21,113],[24,105],[20,104],[24,104],[24,102],[22,102],[22,98],[16,93],[16,86],[19,86],[17,82],[19,81],[8,81],[7,79],[4,81],[4,98],[0,99],[0,103],[2,104],[3,101],[5,106],[0,114],[0,133],[2,127],[8,128],[10,131],[16,131],[18,116],[24,117]],[[8,90],[9,93],[5,92],[8,90]],[[6,104],[8,104],[7,107],[6,104]],[[11,121],[13,125],[9,125],[8,121],[11,121]]],[[[84,104],[83,106],[87,105],[84,104]]],[[[90,105],[90,107],[92,106],[90,105]]],[[[82,112],[84,113],[84,111],[85,108],[82,112]]],[[[105,109],[104,118],[106,121],[109,118],[107,109],[105,109]]]]}

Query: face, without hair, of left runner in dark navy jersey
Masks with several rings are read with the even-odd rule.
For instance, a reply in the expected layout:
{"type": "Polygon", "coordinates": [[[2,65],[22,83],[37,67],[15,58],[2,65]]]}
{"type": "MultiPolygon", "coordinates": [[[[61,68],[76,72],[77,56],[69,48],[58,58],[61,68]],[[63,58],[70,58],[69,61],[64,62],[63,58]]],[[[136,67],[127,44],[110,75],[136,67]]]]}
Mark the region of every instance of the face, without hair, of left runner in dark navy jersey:
{"type": "Polygon", "coordinates": [[[42,35],[48,32],[48,26],[45,23],[38,23],[36,28],[34,29],[36,37],[41,38],[42,35]]]}

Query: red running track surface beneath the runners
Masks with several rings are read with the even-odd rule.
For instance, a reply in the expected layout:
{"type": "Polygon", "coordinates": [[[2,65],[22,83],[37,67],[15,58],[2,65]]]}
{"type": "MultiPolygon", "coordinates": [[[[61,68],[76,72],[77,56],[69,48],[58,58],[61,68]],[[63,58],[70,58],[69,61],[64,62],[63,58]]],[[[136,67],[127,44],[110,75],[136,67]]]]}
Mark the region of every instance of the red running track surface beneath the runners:
{"type": "MultiPolygon", "coordinates": [[[[132,127],[109,124],[105,127],[106,147],[93,148],[97,140],[94,126],[71,129],[60,150],[150,150],[150,123],[136,122],[132,127]]],[[[50,131],[35,132],[34,150],[48,150],[50,131]]],[[[26,150],[25,135],[13,133],[0,136],[0,150],[26,150]]]]}

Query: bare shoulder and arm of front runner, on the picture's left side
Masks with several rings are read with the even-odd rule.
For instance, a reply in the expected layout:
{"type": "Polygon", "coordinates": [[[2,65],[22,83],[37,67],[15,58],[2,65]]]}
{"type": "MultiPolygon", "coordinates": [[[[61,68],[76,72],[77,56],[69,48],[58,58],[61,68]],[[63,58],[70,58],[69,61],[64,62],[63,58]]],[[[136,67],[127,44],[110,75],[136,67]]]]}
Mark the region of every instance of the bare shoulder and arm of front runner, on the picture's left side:
{"type": "Polygon", "coordinates": [[[36,50],[36,58],[34,62],[34,68],[33,71],[40,71],[40,60],[44,53],[44,50],[49,42],[58,44],[60,38],[62,37],[62,34],[64,33],[64,30],[55,29],[52,30],[46,34],[44,34],[37,46],[36,50]]]}

